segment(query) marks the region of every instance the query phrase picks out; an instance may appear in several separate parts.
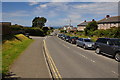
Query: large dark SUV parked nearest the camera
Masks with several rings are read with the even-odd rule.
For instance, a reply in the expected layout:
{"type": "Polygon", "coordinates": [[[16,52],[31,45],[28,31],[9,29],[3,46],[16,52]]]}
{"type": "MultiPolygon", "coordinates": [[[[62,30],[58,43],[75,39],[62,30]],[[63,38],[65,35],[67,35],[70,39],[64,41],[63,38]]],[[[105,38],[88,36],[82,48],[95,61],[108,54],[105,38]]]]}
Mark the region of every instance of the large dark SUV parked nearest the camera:
{"type": "Polygon", "coordinates": [[[98,38],[95,49],[97,54],[103,53],[120,61],[120,39],[118,38],[98,38]]]}

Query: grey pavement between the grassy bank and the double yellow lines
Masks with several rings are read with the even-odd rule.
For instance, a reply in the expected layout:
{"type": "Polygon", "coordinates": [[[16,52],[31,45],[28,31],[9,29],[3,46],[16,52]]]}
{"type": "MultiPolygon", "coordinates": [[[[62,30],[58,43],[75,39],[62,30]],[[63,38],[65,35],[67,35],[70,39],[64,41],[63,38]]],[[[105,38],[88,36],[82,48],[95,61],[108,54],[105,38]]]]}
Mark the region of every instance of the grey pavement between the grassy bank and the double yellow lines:
{"type": "Polygon", "coordinates": [[[11,66],[13,77],[50,78],[43,53],[43,37],[31,37],[34,42],[19,56],[11,66]]]}

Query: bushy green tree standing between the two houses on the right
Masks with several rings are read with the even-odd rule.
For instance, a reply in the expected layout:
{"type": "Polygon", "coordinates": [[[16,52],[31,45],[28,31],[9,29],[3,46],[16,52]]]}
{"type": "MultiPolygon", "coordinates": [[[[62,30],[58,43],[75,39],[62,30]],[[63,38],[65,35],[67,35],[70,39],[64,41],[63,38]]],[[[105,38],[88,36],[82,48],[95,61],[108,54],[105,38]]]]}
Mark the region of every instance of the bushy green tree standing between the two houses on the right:
{"type": "Polygon", "coordinates": [[[92,21],[88,23],[86,28],[84,29],[85,35],[92,35],[92,32],[98,29],[98,25],[96,21],[92,21]]]}

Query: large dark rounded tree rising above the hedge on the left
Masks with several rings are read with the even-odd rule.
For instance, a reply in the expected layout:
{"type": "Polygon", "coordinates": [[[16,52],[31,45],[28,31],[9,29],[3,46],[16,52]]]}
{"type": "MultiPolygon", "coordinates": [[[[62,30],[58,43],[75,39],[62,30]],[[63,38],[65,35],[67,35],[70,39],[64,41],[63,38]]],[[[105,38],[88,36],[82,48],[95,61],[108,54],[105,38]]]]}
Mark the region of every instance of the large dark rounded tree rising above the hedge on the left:
{"type": "Polygon", "coordinates": [[[32,27],[42,28],[43,26],[45,26],[46,22],[47,22],[47,19],[44,17],[35,17],[32,21],[32,27]]]}

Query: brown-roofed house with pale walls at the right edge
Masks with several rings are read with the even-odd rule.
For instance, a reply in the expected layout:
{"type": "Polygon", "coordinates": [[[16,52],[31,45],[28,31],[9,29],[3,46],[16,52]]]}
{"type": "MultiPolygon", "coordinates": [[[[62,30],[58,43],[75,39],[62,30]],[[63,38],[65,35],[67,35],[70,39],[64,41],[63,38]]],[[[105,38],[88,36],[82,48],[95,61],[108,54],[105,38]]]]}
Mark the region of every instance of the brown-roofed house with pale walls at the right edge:
{"type": "Polygon", "coordinates": [[[105,18],[97,21],[98,29],[110,29],[111,27],[119,27],[120,25],[120,16],[112,16],[106,15],[105,18]]]}

